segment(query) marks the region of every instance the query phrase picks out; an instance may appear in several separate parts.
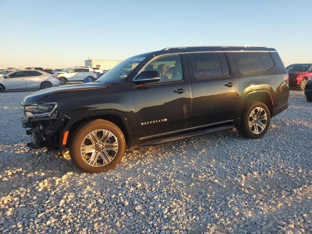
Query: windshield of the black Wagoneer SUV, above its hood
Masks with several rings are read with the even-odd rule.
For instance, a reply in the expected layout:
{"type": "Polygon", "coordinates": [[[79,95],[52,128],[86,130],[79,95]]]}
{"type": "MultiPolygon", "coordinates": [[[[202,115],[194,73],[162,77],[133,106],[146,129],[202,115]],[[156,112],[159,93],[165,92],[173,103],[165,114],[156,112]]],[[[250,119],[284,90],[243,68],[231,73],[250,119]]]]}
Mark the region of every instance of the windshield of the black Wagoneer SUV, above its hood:
{"type": "Polygon", "coordinates": [[[106,72],[103,76],[98,78],[98,82],[121,82],[128,77],[128,75],[140,64],[145,58],[146,54],[138,55],[126,59],[111,70],[106,72]]]}

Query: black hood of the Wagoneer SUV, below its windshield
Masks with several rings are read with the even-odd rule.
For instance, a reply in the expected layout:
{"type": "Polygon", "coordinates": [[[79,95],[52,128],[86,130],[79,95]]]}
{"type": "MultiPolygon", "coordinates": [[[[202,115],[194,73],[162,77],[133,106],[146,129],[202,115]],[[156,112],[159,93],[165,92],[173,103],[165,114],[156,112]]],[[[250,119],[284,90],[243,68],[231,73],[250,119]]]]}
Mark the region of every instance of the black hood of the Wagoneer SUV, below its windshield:
{"type": "Polygon", "coordinates": [[[40,102],[42,98],[47,96],[57,94],[57,93],[67,93],[67,92],[77,92],[84,90],[94,90],[94,89],[104,89],[111,86],[113,83],[104,83],[104,82],[94,82],[94,83],[86,83],[86,84],[73,84],[66,86],[58,86],[54,88],[44,89],[32,93],[31,95],[26,96],[22,101],[21,105],[32,105],[40,102]]]}

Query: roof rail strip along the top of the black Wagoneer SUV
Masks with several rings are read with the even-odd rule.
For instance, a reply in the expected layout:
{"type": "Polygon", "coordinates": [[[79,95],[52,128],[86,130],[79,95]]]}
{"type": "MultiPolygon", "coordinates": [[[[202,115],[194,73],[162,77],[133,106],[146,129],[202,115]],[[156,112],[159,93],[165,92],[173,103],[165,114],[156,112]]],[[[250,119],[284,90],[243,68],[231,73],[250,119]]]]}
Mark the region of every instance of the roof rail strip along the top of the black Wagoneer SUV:
{"type": "Polygon", "coordinates": [[[180,46],[180,47],[168,47],[164,48],[161,51],[276,51],[273,48],[267,48],[266,46],[180,46]]]}

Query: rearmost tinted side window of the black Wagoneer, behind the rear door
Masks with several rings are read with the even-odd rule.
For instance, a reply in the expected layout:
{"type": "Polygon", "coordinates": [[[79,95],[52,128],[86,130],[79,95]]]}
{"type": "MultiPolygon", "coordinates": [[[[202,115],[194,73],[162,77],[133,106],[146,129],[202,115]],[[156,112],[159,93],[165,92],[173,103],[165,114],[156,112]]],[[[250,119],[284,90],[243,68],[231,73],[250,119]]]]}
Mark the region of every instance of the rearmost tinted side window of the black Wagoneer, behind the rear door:
{"type": "Polygon", "coordinates": [[[238,52],[233,56],[241,74],[264,72],[274,67],[271,55],[266,52],[238,52]]]}

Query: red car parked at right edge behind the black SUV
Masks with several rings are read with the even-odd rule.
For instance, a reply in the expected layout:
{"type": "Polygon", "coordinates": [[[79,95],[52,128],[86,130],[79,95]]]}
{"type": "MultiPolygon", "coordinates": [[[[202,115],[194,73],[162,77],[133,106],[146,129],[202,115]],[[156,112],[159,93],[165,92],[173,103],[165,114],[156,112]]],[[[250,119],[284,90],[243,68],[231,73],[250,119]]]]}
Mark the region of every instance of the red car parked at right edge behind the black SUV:
{"type": "Polygon", "coordinates": [[[289,74],[289,87],[304,90],[309,77],[312,76],[312,63],[295,63],[286,67],[289,74]]]}

